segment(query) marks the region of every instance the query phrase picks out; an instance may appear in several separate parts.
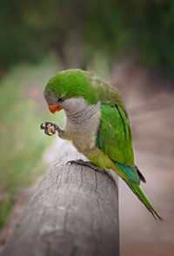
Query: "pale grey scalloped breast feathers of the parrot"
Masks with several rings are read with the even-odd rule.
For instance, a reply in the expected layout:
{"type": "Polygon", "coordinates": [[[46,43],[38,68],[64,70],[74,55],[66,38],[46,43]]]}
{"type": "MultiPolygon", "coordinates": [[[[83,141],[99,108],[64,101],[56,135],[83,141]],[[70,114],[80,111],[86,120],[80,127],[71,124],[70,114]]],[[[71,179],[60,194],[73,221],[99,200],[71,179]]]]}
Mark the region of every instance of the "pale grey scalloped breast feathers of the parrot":
{"type": "Polygon", "coordinates": [[[100,103],[86,104],[84,98],[66,102],[66,124],[64,131],[69,134],[78,152],[85,153],[96,145],[96,134],[100,124],[100,103]]]}

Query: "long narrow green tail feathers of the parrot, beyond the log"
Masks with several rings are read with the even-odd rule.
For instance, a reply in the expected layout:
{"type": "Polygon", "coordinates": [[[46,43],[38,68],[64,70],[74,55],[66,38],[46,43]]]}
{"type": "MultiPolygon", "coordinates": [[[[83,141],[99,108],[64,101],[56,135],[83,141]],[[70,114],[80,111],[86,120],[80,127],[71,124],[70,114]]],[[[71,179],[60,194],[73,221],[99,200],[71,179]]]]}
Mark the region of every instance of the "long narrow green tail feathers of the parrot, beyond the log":
{"type": "Polygon", "coordinates": [[[124,181],[126,182],[127,185],[129,185],[129,187],[131,188],[131,191],[136,194],[137,198],[145,205],[148,211],[151,212],[153,217],[155,219],[160,219],[161,221],[163,221],[163,219],[159,216],[159,214],[153,209],[153,206],[151,205],[150,201],[146,198],[146,196],[144,195],[144,192],[142,192],[139,185],[125,179],[124,181]]]}

